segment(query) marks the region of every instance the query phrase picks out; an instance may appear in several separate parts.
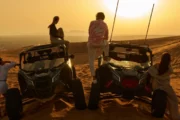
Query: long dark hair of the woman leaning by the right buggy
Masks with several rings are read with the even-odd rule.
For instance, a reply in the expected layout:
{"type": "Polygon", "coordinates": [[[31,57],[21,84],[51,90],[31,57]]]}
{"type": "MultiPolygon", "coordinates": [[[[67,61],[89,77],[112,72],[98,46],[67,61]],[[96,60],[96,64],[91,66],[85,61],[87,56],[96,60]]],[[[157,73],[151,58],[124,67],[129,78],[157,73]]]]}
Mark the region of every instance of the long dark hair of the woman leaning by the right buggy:
{"type": "Polygon", "coordinates": [[[171,55],[167,52],[163,53],[161,57],[161,62],[159,64],[159,70],[158,70],[159,75],[162,75],[169,70],[170,62],[171,62],[171,55]]]}

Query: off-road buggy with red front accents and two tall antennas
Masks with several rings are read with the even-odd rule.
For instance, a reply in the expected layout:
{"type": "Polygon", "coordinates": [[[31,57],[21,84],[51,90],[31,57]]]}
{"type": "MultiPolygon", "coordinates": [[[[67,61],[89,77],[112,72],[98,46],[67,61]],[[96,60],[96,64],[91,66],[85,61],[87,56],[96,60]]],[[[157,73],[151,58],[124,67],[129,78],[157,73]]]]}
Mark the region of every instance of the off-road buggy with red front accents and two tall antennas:
{"type": "Polygon", "coordinates": [[[166,94],[151,89],[147,70],[153,64],[153,54],[149,46],[110,43],[109,58],[105,64],[103,55],[98,59],[97,83],[92,83],[88,108],[98,108],[100,93],[111,92],[125,99],[146,96],[152,98],[152,114],[162,117],[166,108],[166,94]]]}

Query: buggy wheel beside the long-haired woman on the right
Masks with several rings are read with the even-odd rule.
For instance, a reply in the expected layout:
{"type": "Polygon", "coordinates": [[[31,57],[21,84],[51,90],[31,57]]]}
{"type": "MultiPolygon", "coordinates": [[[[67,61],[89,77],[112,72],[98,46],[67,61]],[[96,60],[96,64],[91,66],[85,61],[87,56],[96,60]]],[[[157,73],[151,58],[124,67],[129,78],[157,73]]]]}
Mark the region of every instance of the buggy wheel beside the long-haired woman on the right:
{"type": "Polygon", "coordinates": [[[167,94],[163,90],[155,90],[152,96],[151,114],[154,117],[162,118],[164,116],[167,104],[167,94]]]}

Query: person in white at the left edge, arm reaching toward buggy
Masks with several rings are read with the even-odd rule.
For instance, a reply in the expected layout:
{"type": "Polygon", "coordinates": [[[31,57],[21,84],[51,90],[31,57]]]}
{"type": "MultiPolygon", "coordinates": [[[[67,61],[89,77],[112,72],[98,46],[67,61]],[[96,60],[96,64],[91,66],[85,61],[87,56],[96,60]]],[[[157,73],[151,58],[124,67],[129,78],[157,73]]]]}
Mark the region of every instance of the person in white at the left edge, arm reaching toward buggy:
{"type": "Polygon", "coordinates": [[[5,95],[8,89],[8,85],[6,83],[8,71],[15,66],[15,62],[3,61],[2,58],[0,58],[0,95],[5,95]]]}

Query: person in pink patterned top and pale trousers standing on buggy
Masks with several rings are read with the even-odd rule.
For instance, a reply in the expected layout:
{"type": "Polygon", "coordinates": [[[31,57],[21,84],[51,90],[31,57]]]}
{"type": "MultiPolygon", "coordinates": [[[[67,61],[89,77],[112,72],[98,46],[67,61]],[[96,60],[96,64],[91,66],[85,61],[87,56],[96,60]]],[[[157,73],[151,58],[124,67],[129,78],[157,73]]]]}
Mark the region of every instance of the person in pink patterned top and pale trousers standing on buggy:
{"type": "Polygon", "coordinates": [[[89,37],[87,42],[89,66],[93,83],[97,83],[94,70],[94,60],[97,51],[100,49],[104,52],[104,60],[108,60],[109,44],[108,44],[108,26],[104,22],[105,15],[103,12],[96,14],[96,20],[91,21],[89,25],[89,37]]]}

